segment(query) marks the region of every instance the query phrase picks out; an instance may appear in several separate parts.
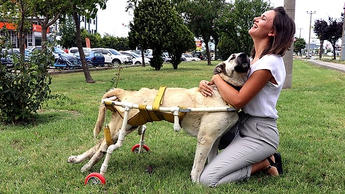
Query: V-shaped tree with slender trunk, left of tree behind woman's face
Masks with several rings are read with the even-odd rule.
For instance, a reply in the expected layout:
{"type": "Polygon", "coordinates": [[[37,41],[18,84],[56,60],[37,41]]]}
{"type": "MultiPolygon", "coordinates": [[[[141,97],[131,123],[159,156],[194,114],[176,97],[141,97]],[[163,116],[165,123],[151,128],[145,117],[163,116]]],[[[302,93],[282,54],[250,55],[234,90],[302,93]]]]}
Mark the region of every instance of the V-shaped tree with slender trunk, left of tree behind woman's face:
{"type": "Polygon", "coordinates": [[[221,8],[226,5],[225,1],[178,1],[175,4],[178,6],[184,20],[188,23],[188,28],[194,33],[195,37],[201,37],[203,39],[206,47],[207,64],[212,65],[210,61],[209,43],[214,34],[213,26],[215,19],[219,17],[218,14],[221,8]]]}

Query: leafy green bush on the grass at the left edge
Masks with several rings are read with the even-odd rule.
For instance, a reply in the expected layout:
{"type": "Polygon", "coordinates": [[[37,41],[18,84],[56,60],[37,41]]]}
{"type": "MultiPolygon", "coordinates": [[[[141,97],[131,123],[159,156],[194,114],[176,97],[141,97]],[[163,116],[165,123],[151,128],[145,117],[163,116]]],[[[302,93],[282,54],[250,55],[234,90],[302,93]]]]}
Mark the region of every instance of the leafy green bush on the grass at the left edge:
{"type": "MultiPolygon", "coordinates": [[[[0,47],[1,51],[1,47],[0,47]]],[[[13,68],[0,67],[0,122],[24,124],[50,95],[48,50],[32,52],[24,60],[12,55],[13,68]]]]}

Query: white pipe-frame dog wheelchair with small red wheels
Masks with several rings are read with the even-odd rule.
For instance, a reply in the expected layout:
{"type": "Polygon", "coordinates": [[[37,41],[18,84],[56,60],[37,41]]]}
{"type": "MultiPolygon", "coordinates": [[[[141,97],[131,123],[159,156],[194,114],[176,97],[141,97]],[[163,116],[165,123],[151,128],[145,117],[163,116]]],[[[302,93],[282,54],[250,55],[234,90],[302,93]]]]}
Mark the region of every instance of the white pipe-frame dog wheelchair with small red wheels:
{"type": "MultiPolygon", "coordinates": [[[[180,116],[181,114],[186,113],[200,113],[200,112],[228,112],[228,111],[235,111],[237,110],[233,106],[223,106],[223,107],[208,107],[208,108],[181,108],[178,106],[173,107],[161,107],[157,106],[157,104],[153,104],[152,106],[148,105],[139,105],[139,104],[132,104],[128,102],[120,102],[120,101],[113,101],[110,97],[109,99],[103,99],[102,100],[103,106],[106,106],[106,108],[112,112],[116,111],[116,106],[122,106],[125,110],[125,113],[123,115],[123,122],[121,125],[121,129],[119,130],[119,137],[117,139],[117,142],[112,142],[111,134],[110,134],[110,128],[106,125],[104,127],[104,138],[106,139],[106,144],[108,145],[108,149],[106,151],[106,158],[103,161],[103,164],[101,165],[101,169],[99,173],[90,173],[86,179],[85,184],[106,184],[106,178],[104,177],[107,168],[108,168],[108,162],[110,161],[110,157],[112,155],[112,152],[115,151],[117,148],[120,148],[124,144],[124,138],[126,136],[126,125],[128,124],[128,115],[129,111],[132,108],[137,108],[141,111],[146,111],[147,113],[153,113],[159,111],[159,113],[170,113],[173,115],[173,128],[176,132],[179,132],[181,130],[181,126],[179,125],[180,116]],[[144,109],[144,110],[143,110],[144,109]]],[[[141,135],[139,144],[136,144],[132,147],[133,153],[142,153],[144,151],[149,151],[150,148],[145,145],[144,135],[146,132],[146,125],[141,125],[137,128],[138,135],[141,135]]]]}

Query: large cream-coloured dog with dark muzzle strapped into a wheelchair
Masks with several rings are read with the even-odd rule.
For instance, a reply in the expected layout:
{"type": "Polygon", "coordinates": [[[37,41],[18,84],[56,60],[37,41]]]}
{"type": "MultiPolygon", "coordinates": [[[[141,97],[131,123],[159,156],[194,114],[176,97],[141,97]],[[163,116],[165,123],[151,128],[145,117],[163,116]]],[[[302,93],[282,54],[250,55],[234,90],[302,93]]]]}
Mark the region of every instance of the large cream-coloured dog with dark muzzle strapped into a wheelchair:
{"type": "MultiPolygon", "coordinates": [[[[247,79],[247,73],[250,68],[250,59],[245,53],[237,53],[230,55],[226,61],[218,64],[213,73],[219,74],[228,84],[234,87],[241,87],[247,79]]],[[[161,107],[184,106],[184,107],[226,107],[229,106],[221,98],[217,87],[213,87],[213,96],[204,97],[201,95],[199,88],[166,88],[161,107]]],[[[102,99],[116,99],[121,102],[130,102],[132,104],[148,104],[152,105],[158,91],[155,89],[141,88],[140,90],[130,91],[121,88],[109,90],[102,99]]],[[[94,136],[96,137],[103,128],[103,122],[106,117],[106,106],[100,106],[99,115],[94,128],[94,136]]],[[[124,108],[119,106],[117,111],[112,111],[109,128],[111,139],[117,142],[119,137],[119,130],[121,128],[124,113],[124,108]]],[[[128,118],[135,117],[139,110],[132,108],[129,111],[128,118]]],[[[140,117],[140,116],[139,116],[140,117]]],[[[193,182],[199,182],[201,172],[204,170],[206,159],[210,162],[213,157],[217,155],[218,144],[221,135],[226,133],[231,127],[235,126],[238,120],[237,111],[224,112],[197,112],[186,113],[181,118],[179,124],[186,132],[194,137],[197,137],[197,148],[195,151],[195,159],[190,177],[193,182]]],[[[141,126],[144,121],[139,124],[130,124],[126,126],[126,135],[131,133],[136,128],[141,126]]],[[[81,171],[90,171],[99,160],[106,154],[108,145],[106,139],[90,148],[81,155],[72,155],[68,157],[68,162],[72,164],[79,164],[87,159],[88,163],[83,165],[81,171]]]]}

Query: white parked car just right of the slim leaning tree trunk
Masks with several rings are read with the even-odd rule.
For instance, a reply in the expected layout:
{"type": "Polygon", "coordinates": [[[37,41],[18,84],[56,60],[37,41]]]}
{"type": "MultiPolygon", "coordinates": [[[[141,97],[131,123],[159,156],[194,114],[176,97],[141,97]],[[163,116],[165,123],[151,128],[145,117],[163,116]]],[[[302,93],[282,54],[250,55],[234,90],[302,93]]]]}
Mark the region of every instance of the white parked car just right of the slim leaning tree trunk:
{"type": "Polygon", "coordinates": [[[92,48],[92,51],[101,52],[106,64],[132,64],[133,59],[112,48],[92,48]]]}

